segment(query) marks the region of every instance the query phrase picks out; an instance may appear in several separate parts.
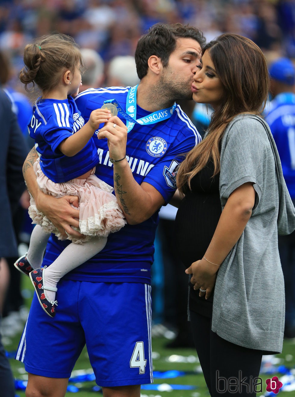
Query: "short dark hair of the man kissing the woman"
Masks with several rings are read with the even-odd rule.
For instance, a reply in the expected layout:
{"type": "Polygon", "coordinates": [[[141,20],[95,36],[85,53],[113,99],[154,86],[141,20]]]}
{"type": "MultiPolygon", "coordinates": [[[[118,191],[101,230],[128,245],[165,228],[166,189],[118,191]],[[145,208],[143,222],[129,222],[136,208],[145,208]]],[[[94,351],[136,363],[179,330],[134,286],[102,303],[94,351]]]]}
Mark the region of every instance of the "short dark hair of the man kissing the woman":
{"type": "Polygon", "coordinates": [[[135,50],[135,63],[139,79],[147,74],[148,58],[158,56],[164,67],[168,65],[169,57],[175,50],[177,39],[188,38],[196,40],[201,48],[206,44],[206,39],[199,29],[182,23],[165,24],[156,23],[148,32],[138,40],[135,50]]]}

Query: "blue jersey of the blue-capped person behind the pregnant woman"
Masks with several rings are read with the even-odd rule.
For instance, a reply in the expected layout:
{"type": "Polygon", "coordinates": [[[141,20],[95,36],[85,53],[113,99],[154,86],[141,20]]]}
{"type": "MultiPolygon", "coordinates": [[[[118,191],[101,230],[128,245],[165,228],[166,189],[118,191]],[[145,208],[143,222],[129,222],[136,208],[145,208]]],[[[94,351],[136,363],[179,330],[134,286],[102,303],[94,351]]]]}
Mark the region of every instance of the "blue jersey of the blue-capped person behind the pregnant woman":
{"type": "Polygon", "coordinates": [[[288,191],[295,200],[295,94],[278,94],[270,102],[265,120],[278,148],[288,191]]]}

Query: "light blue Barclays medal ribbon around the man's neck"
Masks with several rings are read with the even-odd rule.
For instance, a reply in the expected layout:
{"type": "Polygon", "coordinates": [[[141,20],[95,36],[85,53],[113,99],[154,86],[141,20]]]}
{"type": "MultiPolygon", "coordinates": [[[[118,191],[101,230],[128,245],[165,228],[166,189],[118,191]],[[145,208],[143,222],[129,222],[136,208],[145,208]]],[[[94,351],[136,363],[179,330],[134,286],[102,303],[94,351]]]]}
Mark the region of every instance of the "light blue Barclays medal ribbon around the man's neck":
{"type": "Polygon", "coordinates": [[[176,103],[166,109],[158,110],[157,112],[150,113],[148,116],[142,117],[140,119],[136,119],[136,93],[137,93],[138,84],[129,89],[127,98],[126,98],[126,112],[119,105],[116,99],[108,99],[105,100],[103,103],[112,103],[116,106],[118,113],[127,121],[127,132],[131,131],[133,126],[136,124],[140,125],[148,125],[158,123],[159,121],[169,119],[172,116],[176,108],[176,103]]]}

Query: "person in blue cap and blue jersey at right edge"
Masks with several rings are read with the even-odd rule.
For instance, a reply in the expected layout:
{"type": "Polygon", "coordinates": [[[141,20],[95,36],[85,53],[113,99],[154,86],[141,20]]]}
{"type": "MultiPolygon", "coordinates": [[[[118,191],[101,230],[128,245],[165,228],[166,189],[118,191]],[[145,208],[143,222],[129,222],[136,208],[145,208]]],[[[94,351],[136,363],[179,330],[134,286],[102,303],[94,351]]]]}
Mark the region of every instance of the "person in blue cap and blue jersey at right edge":
{"type": "MultiPolygon", "coordinates": [[[[284,178],[295,203],[295,67],[288,58],[279,58],[269,66],[270,92],[273,99],[265,119],[276,142],[284,178]]],[[[295,337],[295,232],[278,236],[285,281],[284,336],[295,337]]]]}

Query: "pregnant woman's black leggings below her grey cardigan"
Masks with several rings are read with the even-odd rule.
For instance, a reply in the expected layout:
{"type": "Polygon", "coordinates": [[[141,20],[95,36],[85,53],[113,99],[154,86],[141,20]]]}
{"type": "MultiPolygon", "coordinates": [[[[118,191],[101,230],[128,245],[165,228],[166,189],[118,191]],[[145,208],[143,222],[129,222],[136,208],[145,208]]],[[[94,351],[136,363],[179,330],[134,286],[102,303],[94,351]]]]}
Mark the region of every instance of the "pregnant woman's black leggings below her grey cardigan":
{"type": "Polygon", "coordinates": [[[255,397],[263,391],[264,385],[258,378],[262,351],[222,339],[211,330],[211,319],[201,314],[190,311],[190,323],[211,397],[255,397]]]}

